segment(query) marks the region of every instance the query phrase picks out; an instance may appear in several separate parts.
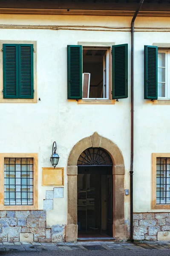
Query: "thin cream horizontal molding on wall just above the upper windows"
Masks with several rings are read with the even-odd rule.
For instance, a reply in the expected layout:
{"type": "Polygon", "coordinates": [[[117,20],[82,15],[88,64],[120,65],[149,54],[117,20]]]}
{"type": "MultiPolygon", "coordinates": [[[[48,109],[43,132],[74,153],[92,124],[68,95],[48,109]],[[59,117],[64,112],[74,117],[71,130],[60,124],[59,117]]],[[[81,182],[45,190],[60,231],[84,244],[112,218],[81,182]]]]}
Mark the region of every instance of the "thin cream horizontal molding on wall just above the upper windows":
{"type": "MultiPolygon", "coordinates": [[[[124,31],[130,32],[130,27],[110,26],[70,26],[70,25],[7,25],[0,24],[0,29],[51,29],[51,30],[86,30],[86,31],[124,31]]],[[[135,32],[170,32],[170,27],[135,27],[135,32]]]]}

